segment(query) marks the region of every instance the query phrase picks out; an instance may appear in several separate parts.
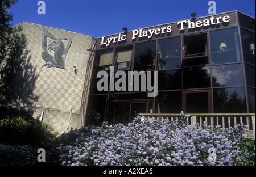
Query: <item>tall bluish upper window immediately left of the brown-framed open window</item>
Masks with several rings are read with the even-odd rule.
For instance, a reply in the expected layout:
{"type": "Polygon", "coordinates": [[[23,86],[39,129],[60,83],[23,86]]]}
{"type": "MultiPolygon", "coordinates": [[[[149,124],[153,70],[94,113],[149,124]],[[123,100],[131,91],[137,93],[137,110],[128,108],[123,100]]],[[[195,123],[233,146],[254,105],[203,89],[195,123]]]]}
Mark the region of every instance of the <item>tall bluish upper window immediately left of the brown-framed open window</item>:
{"type": "Polygon", "coordinates": [[[158,40],[158,69],[180,68],[180,37],[158,40]]]}

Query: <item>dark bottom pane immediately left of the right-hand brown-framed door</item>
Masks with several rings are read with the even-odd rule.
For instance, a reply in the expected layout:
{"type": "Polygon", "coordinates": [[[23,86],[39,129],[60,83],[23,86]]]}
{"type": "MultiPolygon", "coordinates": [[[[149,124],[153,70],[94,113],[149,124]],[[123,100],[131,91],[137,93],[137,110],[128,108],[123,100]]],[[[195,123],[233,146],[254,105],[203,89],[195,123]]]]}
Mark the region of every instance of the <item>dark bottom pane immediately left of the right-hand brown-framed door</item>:
{"type": "Polygon", "coordinates": [[[181,92],[159,92],[155,102],[157,113],[180,113],[181,92]]]}

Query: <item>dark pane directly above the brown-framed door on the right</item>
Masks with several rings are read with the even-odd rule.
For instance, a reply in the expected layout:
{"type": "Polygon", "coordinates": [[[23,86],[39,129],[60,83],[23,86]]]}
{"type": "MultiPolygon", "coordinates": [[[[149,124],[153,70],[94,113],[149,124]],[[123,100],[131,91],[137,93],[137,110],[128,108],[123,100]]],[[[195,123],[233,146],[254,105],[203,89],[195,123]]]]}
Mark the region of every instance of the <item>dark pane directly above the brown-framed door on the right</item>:
{"type": "Polygon", "coordinates": [[[210,67],[185,68],[183,71],[183,88],[210,87],[210,67]]]}

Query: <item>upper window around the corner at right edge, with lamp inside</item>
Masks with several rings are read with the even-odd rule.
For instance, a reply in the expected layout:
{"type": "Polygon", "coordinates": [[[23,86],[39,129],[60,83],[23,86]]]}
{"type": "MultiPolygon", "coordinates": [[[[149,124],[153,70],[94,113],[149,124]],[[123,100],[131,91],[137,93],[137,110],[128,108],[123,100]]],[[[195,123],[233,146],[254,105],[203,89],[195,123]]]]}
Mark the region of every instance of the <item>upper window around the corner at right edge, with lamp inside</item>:
{"type": "Polygon", "coordinates": [[[245,62],[255,65],[255,32],[241,28],[241,39],[245,62]]]}

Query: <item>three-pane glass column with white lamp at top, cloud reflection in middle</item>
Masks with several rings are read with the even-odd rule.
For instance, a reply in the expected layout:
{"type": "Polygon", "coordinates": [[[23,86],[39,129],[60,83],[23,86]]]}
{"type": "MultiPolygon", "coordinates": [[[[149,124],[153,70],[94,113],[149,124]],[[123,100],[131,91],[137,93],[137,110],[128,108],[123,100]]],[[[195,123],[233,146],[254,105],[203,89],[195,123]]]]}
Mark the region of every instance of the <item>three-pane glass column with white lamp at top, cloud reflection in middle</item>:
{"type": "Polygon", "coordinates": [[[210,32],[213,106],[216,113],[245,113],[246,95],[238,28],[210,32]]]}

